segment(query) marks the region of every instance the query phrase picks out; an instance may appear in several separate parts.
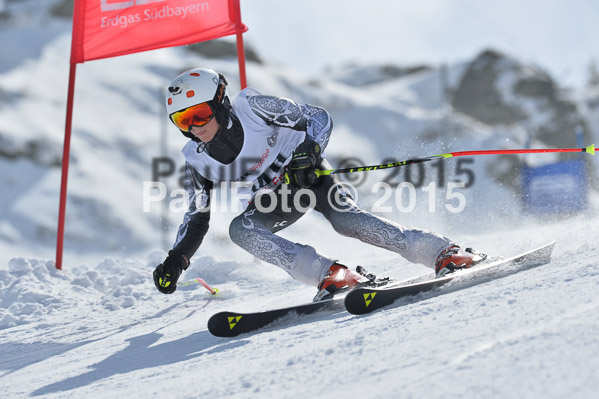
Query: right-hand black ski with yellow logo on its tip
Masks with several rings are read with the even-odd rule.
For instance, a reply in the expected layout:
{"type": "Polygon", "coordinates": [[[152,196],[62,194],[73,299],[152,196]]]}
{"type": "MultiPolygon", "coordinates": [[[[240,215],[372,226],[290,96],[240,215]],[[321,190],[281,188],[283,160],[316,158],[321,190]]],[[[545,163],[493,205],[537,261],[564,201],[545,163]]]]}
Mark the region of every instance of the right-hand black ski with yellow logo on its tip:
{"type": "Polygon", "coordinates": [[[356,288],[344,299],[345,308],[352,314],[365,314],[391,305],[400,298],[413,297],[441,286],[443,293],[471,287],[509,274],[547,264],[555,242],[520,255],[491,262],[482,262],[469,269],[459,270],[445,277],[414,284],[394,284],[382,288],[356,288]]]}

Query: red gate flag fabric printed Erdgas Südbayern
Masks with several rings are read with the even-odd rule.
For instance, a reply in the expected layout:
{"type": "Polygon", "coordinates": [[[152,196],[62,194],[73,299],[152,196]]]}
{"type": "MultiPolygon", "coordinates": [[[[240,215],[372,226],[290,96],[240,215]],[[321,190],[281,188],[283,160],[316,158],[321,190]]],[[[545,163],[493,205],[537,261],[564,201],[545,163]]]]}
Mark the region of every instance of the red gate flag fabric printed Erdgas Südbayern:
{"type": "Polygon", "coordinates": [[[239,0],[75,0],[71,63],[247,31],[239,0]]]}

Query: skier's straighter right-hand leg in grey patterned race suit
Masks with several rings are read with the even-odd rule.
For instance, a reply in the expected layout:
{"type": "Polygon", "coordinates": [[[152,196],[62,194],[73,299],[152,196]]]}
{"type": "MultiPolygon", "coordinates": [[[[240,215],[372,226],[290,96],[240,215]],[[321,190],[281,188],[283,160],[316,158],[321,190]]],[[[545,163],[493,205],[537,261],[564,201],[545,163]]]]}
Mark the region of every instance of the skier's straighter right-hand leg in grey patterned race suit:
{"type": "MultiPolygon", "coordinates": [[[[324,169],[331,169],[326,162],[324,169]]],[[[413,263],[435,267],[439,255],[453,243],[427,230],[402,226],[360,209],[334,176],[323,176],[314,187],[316,209],[338,233],[396,252],[413,263]]]]}

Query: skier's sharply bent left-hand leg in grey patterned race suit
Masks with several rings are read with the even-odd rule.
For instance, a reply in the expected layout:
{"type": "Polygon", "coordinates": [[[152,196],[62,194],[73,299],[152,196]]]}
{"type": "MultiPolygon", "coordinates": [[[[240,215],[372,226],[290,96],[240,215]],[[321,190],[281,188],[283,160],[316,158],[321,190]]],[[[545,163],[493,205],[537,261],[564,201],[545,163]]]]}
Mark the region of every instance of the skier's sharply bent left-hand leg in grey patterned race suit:
{"type": "MultiPolygon", "coordinates": [[[[258,198],[254,199],[242,214],[233,219],[229,235],[235,244],[258,259],[280,267],[296,280],[317,286],[335,259],[318,253],[309,245],[294,243],[275,234],[304,215],[292,208],[292,200],[282,201],[283,195],[292,195],[289,191],[282,192],[283,188],[289,190],[288,186],[277,190],[277,205],[269,212],[261,212],[256,206],[258,198]],[[291,204],[291,208],[285,211],[283,204],[291,204]]],[[[260,201],[262,209],[268,209],[272,198],[265,195],[260,201]]]]}

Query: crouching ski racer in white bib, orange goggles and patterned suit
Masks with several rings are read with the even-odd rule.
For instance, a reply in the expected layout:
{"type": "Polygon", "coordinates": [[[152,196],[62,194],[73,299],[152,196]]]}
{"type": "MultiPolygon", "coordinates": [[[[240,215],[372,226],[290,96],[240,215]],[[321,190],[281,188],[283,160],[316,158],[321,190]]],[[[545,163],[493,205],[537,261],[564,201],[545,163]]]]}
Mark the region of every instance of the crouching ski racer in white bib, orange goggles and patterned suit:
{"type": "Polygon", "coordinates": [[[365,281],[335,257],[276,233],[296,222],[307,207],[320,212],[339,234],[396,252],[435,269],[438,276],[470,267],[483,257],[462,250],[448,238],[408,228],[358,207],[324,157],[333,122],[321,107],[242,90],[231,102],[227,81],[211,69],[194,68],[177,76],[166,90],[172,123],[190,139],[183,147],[189,210],[176,242],[154,270],[154,283],[171,294],[189,266],[210,219],[214,182],[251,183],[249,202],[229,227],[231,240],[292,278],[317,287],[315,301],[365,281]],[[283,183],[285,173],[290,183],[283,183]]]}

